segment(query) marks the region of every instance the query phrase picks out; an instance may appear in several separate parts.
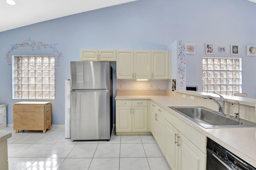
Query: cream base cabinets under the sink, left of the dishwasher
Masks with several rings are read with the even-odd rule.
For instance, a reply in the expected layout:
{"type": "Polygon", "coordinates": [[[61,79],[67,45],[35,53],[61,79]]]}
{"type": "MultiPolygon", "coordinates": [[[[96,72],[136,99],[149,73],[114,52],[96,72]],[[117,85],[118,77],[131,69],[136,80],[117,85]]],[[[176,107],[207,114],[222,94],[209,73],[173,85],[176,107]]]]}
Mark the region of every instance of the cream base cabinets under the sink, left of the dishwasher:
{"type": "Polygon", "coordinates": [[[151,102],[151,132],[172,170],[205,170],[206,137],[154,102],[151,102]],[[195,140],[202,141],[191,142],[195,140]]]}

